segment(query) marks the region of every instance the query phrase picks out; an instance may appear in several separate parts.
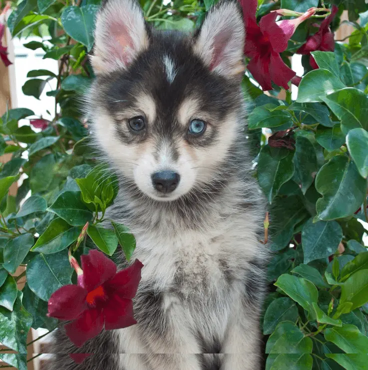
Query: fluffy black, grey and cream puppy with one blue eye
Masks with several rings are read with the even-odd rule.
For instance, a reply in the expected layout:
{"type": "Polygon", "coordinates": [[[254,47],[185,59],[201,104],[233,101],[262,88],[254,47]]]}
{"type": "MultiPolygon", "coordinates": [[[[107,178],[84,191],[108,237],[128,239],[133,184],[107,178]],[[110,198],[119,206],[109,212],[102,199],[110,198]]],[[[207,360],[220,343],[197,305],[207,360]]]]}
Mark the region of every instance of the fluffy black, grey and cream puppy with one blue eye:
{"type": "Polygon", "coordinates": [[[95,355],[79,365],[58,330],[53,370],[260,369],[265,207],[246,152],[243,48],[236,0],[194,33],[151,28],[134,0],[101,8],[88,113],[120,180],[110,217],[144,264],[138,323],[88,341],[78,351],[95,355]]]}

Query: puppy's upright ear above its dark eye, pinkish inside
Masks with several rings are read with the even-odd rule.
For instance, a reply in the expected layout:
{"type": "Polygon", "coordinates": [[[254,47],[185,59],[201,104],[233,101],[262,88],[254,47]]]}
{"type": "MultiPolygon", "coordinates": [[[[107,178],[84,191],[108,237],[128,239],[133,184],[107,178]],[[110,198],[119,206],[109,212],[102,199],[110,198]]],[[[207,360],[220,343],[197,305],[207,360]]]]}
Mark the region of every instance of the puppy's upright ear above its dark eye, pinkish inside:
{"type": "Polygon", "coordinates": [[[126,68],[148,47],[142,9],[136,0],[108,0],[96,19],[91,63],[96,74],[126,68]]]}

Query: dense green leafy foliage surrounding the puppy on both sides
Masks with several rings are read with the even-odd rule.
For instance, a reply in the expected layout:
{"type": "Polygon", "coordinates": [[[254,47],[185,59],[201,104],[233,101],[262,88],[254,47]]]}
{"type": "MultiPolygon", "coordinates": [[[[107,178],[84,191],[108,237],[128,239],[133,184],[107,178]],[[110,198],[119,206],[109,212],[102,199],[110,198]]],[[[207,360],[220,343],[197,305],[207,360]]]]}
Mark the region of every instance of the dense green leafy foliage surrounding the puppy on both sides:
{"type": "MultiPolygon", "coordinates": [[[[212,0],[140,2],[156,27],[191,30],[212,0]]],[[[368,250],[360,221],[368,221],[368,5],[364,0],[258,2],[258,21],[274,9],[305,12],[333,3],[339,6],[333,29],[344,9],[355,28],[335,43],[334,52],[312,52],[318,69],[312,69],[311,55],[302,56],[305,71],[296,101],[274,83],[265,94],[249,71],[242,81],[249,145],[270,203],[268,245],[274,254],[261,322],[266,368],[367,369],[368,250]]],[[[47,121],[28,108],[15,108],[0,119],[0,154],[11,155],[0,171],[0,342],[17,351],[2,351],[0,359],[20,369],[26,368],[26,332],[56,326],[45,315],[47,300],[76,279],[68,247],[77,258],[95,246],[113,255],[119,244],[130,258],[135,247],[124,225],[101,226],[109,222],[105,211],[117,181],[101,175],[105,168],[87,145],[88,121],[78,104],[93,78],[87,54],[98,6],[99,0],[23,0],[12,4],[7,21],[13,36],[42,37],[26,47],[59,60],[57,75],[32,70],[23,86],[25,94],[39,98],[47,81],[55,80],[56,89],[47,93],[55,98],[55,117],[47,121]],[[18,127],[24,118],[31,125],[18,127]],[[7,195],[15,181],[21,181],[16,196],[7,195]],[[17,290],[24,273],[27,283],[17,290]]],[[[326,15],[317,12],[298,26],[281,53],[286,64],[326,15]]]]}

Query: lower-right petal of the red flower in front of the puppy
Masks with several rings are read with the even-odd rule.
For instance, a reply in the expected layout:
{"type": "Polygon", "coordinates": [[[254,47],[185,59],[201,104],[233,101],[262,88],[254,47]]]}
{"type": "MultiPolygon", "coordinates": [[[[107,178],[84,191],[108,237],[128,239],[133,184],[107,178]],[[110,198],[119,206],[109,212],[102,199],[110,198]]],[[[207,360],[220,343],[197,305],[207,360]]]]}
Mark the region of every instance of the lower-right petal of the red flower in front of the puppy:
{"type": "Polygon", "coordinates": [[[105,329],[121,329],[137,323],[133,316],[133,301],[120,298],[116,294],[110,297],[108,305],[104,308],[105,329]]]}

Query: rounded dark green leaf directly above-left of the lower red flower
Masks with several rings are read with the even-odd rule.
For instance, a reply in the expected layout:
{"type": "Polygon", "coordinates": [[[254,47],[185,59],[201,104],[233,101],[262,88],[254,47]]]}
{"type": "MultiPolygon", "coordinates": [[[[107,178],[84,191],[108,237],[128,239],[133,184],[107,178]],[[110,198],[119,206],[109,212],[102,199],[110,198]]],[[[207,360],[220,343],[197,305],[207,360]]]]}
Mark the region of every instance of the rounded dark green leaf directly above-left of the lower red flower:
{"type": "Polygon", "coordinates": [[[71,283],[72,273],[68,253],[65,251],[39,253],[28,262],[26,269],[29,288],[45,301],[55,290],[71,283]]]}

